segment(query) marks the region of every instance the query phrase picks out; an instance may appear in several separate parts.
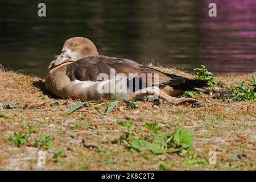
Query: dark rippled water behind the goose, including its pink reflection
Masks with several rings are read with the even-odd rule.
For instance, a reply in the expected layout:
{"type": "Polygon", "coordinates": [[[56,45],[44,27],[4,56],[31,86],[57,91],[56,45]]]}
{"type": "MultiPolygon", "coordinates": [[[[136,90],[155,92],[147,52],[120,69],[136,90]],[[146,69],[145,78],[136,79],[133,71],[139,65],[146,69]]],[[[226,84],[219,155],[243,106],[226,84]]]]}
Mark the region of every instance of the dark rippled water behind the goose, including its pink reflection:
{"type": "Polygon", "coordinates": [[[0,64],[44,76],[66,39],[84,36],[101,55],[192,71],[256,70],[256,1],[41,1],[0,2],[0,64]]]}

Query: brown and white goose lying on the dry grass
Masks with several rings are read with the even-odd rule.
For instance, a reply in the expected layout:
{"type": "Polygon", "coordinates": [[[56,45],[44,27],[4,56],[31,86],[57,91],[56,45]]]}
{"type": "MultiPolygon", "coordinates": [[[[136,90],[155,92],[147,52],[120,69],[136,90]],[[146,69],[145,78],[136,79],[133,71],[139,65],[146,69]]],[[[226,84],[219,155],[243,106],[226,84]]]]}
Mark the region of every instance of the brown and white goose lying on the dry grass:
{"type": "Polygon", "coordinates": [[[46,88],[51,93],[81,101],[138,100],[154,95],[180,104],[196,100],[174,96],[207,86],[204,80],[190,80],[132,60],[99,55],[93,42],[82,37],[64,43],[62,53],[51,62],[46,76],[46,88]],[[124,92],[124,88],[128,91],[124,92]]]}

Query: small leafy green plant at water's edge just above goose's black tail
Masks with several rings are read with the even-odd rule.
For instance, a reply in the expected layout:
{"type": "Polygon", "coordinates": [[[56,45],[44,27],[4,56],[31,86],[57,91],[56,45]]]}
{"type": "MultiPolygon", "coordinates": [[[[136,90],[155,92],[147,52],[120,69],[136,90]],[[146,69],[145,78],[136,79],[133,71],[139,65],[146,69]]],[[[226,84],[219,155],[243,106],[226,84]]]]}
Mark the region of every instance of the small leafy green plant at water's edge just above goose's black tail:
{"type": "Polygon", "coordinates": [[[197,76],[197,79],[207,80],[208,85],[210,87],[213,87],[216,84],[217,79],[213,77],[213,74],[211,72],[209,72],[207,70],[207,68],[205,68],[204,65],[201,65],[200,68],[195,68],[194,71],[195,71],[195,74],[197,76]]]}

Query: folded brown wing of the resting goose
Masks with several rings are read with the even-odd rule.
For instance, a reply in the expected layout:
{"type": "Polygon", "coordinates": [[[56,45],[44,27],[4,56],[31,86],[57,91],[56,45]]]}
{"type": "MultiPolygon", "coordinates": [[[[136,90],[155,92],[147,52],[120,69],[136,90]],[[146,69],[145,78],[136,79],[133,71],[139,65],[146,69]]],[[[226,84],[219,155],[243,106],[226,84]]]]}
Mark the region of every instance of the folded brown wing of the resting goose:
{"type": "Polygon", "coordinates": [[[71,81],[98,81],[100,73],[105,73],[110,77],[110,69],[115,69],[115,74],[125,73],[126,76],[129,76],[129,73],[144,73],[146,75],[146,82],[149,85],[154,84],[156,78],[159,79],[158,83],[160,86],[184,84],[188,80],[188,78],[170,76],[167,73],[145,67],[132,60],[108,56],[90,56],[77,60],[68,65],[67,75],[71,81]],[[152,74],[151,79],[147,79],[149,73],[152,74]]]}

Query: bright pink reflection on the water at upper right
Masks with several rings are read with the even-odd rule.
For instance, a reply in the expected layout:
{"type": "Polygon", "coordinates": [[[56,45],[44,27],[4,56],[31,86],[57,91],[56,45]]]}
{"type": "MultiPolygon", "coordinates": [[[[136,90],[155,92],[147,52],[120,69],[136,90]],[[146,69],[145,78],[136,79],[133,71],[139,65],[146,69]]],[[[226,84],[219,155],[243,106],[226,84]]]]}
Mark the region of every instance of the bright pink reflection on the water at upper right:
{"type": "Polygon", "coordinates": [[[204,0],[200,23],[203,31],[200,59],[207,59],[210,69],[237,72],[256,71],[256,1],[204,0]],[[216,3],[217,17],[208,16],[209,3],[216,3]]]}

